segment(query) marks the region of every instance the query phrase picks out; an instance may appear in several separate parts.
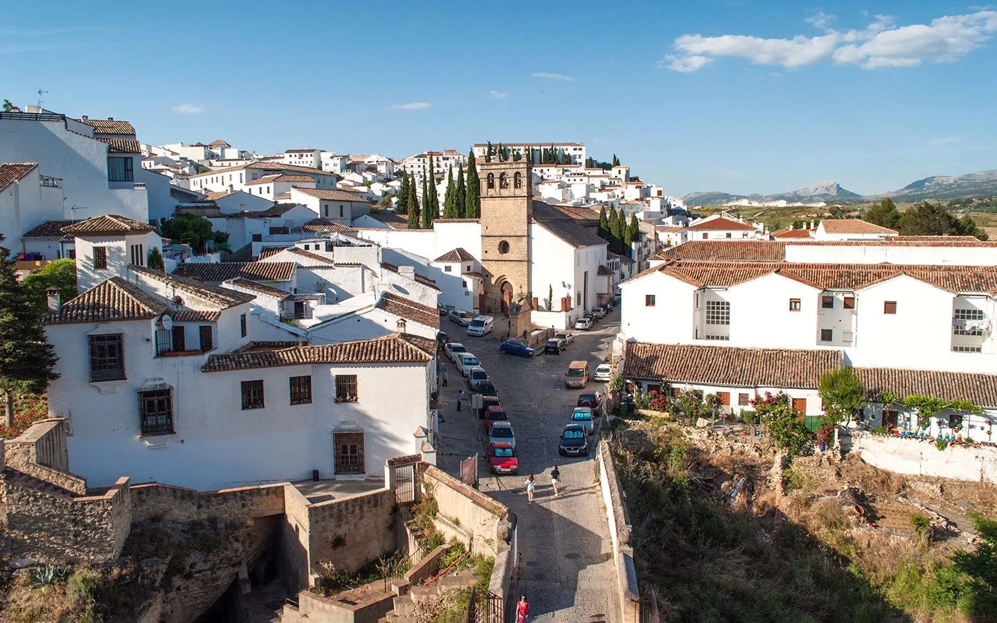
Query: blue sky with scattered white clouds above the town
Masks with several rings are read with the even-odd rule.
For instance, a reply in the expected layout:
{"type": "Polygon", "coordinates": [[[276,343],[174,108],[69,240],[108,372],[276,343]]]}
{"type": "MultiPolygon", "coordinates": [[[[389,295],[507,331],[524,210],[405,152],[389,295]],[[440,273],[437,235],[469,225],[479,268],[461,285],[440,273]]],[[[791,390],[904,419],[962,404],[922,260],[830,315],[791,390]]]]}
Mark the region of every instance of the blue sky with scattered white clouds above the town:
{"type": "Polygon", "coordinates": [[[997,168],[997,9],[944,2],[27,2],[0,98],[146,143],[404,157],[580,141],[667,191],[997,168]]]}

